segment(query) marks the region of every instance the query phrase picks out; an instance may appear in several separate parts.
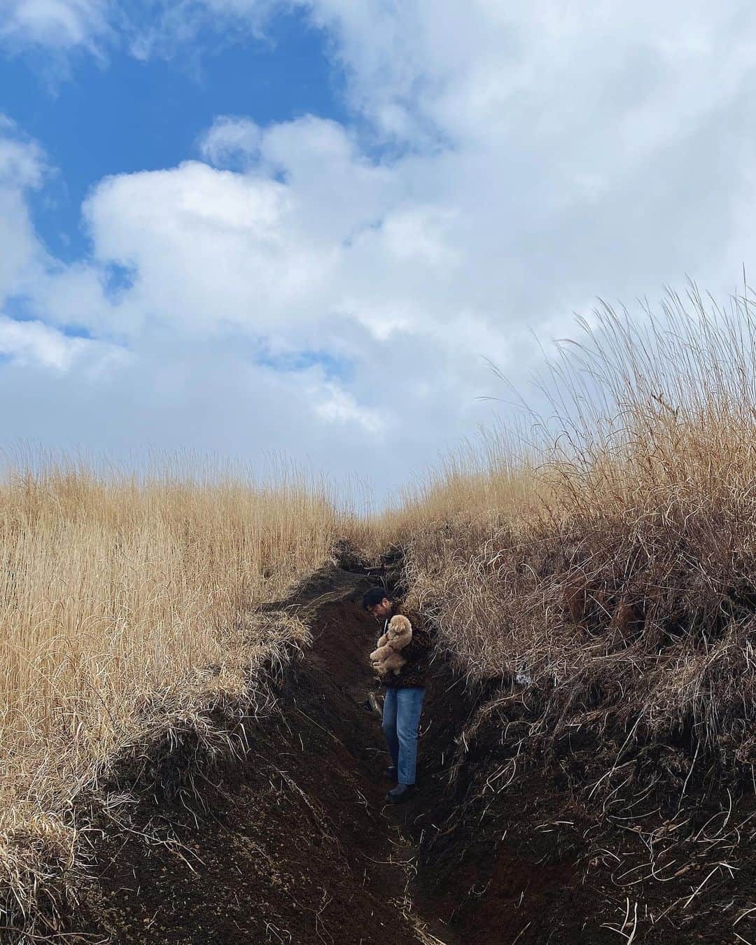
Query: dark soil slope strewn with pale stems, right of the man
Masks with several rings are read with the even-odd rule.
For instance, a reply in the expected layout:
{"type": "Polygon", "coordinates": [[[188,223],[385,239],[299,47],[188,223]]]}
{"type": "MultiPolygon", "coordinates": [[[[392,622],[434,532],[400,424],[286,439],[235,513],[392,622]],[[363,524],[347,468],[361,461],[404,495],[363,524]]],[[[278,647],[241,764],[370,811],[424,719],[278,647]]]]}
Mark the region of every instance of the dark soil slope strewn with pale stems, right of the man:
{"type": "Polygon", "coordinates": [[[752,772],[710,756],[698,775],[670,734],[610,781],[625,730],[544,744],[510,681],[450,700],[441,680],[455,684],[439,666],[413,832],[425,902],[465,945],[756,942],[752,772]]]}

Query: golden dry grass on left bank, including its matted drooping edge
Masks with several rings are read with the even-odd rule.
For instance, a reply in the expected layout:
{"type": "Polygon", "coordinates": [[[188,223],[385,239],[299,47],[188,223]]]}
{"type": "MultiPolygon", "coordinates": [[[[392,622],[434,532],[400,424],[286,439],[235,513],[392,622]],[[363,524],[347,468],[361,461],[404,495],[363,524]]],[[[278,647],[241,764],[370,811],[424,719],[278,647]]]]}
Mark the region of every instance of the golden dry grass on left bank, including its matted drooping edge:
{"type": "Polygon", "coordinates": [[[291,472],[266,488],[9,466],[0,937],[58,940],[85,862],[83,788],[185,803],[204,770],[244,752],[240,719],[269,710],[276,663],[307,639],[255,605],[328,559],[345,521],[321,483],[291,472]]]}

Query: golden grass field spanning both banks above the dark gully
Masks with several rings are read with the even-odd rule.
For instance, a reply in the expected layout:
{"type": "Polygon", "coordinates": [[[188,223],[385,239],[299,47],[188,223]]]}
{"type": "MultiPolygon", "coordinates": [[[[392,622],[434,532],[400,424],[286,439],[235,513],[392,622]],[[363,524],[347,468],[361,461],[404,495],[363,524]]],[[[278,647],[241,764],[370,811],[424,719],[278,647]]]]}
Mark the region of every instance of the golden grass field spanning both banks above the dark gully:
{"type": "Polygon", "coordinates": [[[755,341],[745,300],[597,312],[561,344],[546,406],[517,435],[450,457],[380,515],[339,511],[291,474],[262,488],[11,465],[0,830],[56,816],[138,737],[146,698],[191,699],[203,667],[229,662],[230,627],[339,540],[367,558],[404,547],[456,665],[547,680],[549,725],[580,705],[587,724],[692,727],[752,761],[755,341]]]}

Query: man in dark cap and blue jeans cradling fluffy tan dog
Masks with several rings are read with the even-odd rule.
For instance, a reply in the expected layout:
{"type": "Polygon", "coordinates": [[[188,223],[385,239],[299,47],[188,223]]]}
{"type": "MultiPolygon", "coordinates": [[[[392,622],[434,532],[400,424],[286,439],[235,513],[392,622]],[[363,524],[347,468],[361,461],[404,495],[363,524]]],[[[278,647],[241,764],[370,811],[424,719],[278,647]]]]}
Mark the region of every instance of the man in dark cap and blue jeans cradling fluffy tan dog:
{"type": "Polygon", "coordinates": [[[401,804],[413,797],[417,790],[418,725],[425,696],[431,638],[420,614],[405,610],[388,597],[383,588],[370,588],[363,597],[362,606],[383,624],[383,633],[387,631],[388,621],[398,613],[412,625],[412,640],[400,651],[406,662],[399,675],[390,672],[381,679],[386,686],[383,728],[393,762],[386,774],[388,779],[397,782],[386,799],[389,804],[401,804]]]}

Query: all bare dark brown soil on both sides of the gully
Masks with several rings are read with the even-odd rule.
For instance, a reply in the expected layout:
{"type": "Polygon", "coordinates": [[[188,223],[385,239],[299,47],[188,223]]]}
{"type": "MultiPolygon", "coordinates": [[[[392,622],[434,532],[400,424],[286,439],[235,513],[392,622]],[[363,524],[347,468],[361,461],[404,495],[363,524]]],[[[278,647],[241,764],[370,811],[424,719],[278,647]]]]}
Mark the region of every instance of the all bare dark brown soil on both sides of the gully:
{"type": "MultiPolygon", "coordinates": [[[[618,883],[626,868],[643,864],[642,828],[651,821],[640,815],[656,804],[649,799],[636,809],[637,822],[630,811],[608,826],[575,788],[593,777],[591,765],[600,771],[606,764],[602,751],[576,742],[562,755],[513,756],[505,733],[526,719],[526,699],[516,710],[507,703],[508,715],[484,713],[480,723],[495,683],[471,691],[440,658],[421,722],[419,794],[402,807],[386,805],[380,723],[364,706],[371,688],[366,654],[376,636],[359,608],[368,585],[365,576],[333,569],[285,602],[309,621],[313,647],[287,671],[281,713],[247,730],[245,762],[208,783],[203,812],[168,812],[164,803],[141,799],[121,829],[111,824],[96,840],[94,883],[81,910],[90,917],[88,940],[738,941],[732,910],[756,904],[747,898],[752,860],[731,875],[719,869],[693,908],[662,918],[704,880],[709,859],[728,862],[727,854],[707,848],[708,859],[670,882],[623,885],[647,872],[641,869],[618,883]]],[[[604,741],[607,757],[616,753],[608,736],[604,741]]],[[[718,809],[718,797],[709,792],[691,830],[718,809]]],[[[743,821],[754,809],[752,795],[733,805],[743,821]]],[[[665,862],[662,856],[658,867],[665,862]]],[[[756,941],[754,919],[737,925],[741,940],[756,941]]]]}

